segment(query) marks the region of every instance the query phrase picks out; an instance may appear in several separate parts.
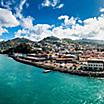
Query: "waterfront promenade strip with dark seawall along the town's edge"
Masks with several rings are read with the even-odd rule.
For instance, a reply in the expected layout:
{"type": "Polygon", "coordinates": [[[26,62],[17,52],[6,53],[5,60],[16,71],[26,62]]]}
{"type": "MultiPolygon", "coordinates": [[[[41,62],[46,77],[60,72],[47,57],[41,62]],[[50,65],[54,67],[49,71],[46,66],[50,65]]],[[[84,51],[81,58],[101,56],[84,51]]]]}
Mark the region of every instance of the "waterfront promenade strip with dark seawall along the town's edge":
{"type": "MultiPolygon", "coordinates": [[[[67,67],[62,67],[60,64],[56,63],[45,63],[45,62],[35,62],[31,59],[21,58],[21,57],[15,57],[12,56],[12,58],[18,62],[33,65],[39,68],[44,68],[46,70],[52,70],[52,71],[59,71],[63,73],[69,73],[72,75],[79,75],[79,76],[89,76],[89,77],[104,77],[104,71],[91,71],[91,70],[83,70],[82,67],[76,67],[74,70],[67,67]]],[[[72,67],[73,68],[73,67],[72,67]]]]}

